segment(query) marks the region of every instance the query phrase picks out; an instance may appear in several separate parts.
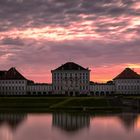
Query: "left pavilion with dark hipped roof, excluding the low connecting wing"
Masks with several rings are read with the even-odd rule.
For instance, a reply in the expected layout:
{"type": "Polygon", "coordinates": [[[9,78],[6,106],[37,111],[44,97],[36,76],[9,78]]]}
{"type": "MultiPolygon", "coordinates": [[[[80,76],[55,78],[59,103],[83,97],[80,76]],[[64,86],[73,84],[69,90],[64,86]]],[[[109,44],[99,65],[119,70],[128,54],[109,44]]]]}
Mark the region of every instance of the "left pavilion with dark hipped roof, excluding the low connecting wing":
{"type": "Polygon", "coordinates": [[[27,79],[15,68],[0,71],[0,95],[25,95],[27,79]]]}

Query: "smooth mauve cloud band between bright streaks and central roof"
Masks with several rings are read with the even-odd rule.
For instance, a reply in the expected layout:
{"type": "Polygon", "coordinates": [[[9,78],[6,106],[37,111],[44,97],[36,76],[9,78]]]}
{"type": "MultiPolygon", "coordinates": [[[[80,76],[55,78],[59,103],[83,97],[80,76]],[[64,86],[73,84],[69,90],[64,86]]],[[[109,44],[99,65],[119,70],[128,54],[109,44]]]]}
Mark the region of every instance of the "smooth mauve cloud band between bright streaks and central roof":
{"type": "Polygon", "coordinates": [[[8,48],[7,53],[14,54],[8,59],[15,65],[52,67],[52,64],[59,65],[66,61],[76,61],[85,66],[103,66],[127,62],[139,63],[140,60],[140,40],[120,43],[95,40],[59,43],[46,41],[38,43],[35,40],[34,43],[27,43],[27,40],[25,42],[25,46],[19,51],[8,48]]]}

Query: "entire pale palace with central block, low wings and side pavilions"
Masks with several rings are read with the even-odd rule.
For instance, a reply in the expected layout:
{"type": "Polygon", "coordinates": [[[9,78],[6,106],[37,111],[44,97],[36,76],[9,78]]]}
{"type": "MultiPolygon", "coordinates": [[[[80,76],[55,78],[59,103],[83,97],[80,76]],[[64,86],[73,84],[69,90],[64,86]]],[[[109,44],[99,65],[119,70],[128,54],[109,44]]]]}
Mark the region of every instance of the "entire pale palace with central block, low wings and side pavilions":
{"type": "Polygon", "coordinates": [[[0,95],[112,95],[140,94],[140,75],[124,69],[112,81],[90,81],[90,70],[74,62],[67,62],[51,71],[52,84],[34,83],[15,68],[0,71],[0,95]]]}

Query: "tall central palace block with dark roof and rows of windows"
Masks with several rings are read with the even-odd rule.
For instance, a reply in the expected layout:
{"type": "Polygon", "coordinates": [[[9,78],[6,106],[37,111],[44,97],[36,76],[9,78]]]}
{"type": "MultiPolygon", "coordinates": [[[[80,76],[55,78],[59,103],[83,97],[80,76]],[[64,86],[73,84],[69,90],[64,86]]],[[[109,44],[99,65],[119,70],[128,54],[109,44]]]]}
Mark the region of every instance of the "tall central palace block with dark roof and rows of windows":
{"type": "Polygon", "coordinates": [[[88,68],[67,62],[51,72],[54,94],[68,96],[89,94],[90,70],[88,68]]]}

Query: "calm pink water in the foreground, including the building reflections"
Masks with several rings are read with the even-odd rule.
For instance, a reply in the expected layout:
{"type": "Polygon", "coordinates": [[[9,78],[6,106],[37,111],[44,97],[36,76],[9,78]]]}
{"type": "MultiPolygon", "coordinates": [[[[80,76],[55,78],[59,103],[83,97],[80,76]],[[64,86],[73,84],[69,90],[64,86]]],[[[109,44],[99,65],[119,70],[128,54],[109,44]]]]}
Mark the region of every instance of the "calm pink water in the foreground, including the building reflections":
{"type": "Polygon", "coordinates": [[[140,114],[0,113],[0,140],[140,140],[140,114]]]}

